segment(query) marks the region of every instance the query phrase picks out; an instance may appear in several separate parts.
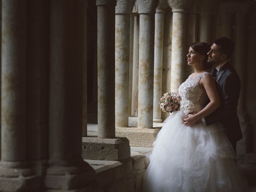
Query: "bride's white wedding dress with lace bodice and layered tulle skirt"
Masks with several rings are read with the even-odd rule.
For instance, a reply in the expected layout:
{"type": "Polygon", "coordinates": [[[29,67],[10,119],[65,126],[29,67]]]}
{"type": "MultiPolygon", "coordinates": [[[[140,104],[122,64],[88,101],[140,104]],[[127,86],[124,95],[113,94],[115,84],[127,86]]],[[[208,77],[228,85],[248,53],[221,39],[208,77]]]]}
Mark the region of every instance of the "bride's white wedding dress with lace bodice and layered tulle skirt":
{"type": "MultiPolygon", "coordinates": [[[[182,102],[200,111],[209,102],[199,81],[207,74],[190,75],[179,87],[182,102]]],[[[181,104],[182,105],[182,104],[181,104]]],[[[185,126],[184,111],[173,112],[153,143],[143,192],[246,192],[244,176],[221,124],[185,126]]]]}

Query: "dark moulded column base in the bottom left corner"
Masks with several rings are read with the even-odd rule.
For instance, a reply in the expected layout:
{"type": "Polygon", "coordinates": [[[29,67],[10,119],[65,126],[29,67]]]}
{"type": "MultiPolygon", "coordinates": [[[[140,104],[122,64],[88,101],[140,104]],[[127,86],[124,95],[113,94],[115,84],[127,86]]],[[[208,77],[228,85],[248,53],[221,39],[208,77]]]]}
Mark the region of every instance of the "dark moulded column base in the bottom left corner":
{"type": "Polygon", "coordinates": [[[40,185],[40,176],[35,175],[31,168],[26,168],[26,163],[1,161],[1,192],[36,191],[40,185]]]}

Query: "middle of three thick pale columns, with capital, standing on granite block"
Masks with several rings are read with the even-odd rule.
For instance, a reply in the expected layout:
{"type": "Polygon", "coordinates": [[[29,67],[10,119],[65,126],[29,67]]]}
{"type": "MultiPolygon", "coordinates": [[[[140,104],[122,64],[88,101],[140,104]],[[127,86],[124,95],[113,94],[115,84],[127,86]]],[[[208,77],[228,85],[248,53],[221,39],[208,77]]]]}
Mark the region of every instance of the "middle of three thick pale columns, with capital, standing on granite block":
{"type": "Polygon", "coordinates": [[[138,127],[153,127],[154,26],[158,0],[138,0],[140,14],[138,127]]]}

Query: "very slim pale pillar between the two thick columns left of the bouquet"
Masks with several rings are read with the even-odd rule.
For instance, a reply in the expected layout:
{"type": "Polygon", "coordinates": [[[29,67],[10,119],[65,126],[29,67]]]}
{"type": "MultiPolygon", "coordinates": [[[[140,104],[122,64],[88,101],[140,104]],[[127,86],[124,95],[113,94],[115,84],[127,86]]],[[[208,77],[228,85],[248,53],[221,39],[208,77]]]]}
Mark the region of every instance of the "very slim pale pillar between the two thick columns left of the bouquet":
{"type": "Polygon", "coordinates": [[[132,64],[132,116],[138,116],[138,78],[139,78],[139,29],[140,16],[137,2],[134,4],[134,40],[133,40],[133,64],[132,64]]]}

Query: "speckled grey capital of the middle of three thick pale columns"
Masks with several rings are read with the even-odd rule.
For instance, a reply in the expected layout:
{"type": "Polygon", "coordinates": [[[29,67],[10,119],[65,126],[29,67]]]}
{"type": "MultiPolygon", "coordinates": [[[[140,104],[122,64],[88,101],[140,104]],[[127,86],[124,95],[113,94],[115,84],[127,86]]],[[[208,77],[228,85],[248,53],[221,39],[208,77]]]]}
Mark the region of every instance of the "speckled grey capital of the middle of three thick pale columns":
{"type": "Polygon", "coordinates": [[[139,14],[155,14],[159,0],[136,0],[139,14]]]}

